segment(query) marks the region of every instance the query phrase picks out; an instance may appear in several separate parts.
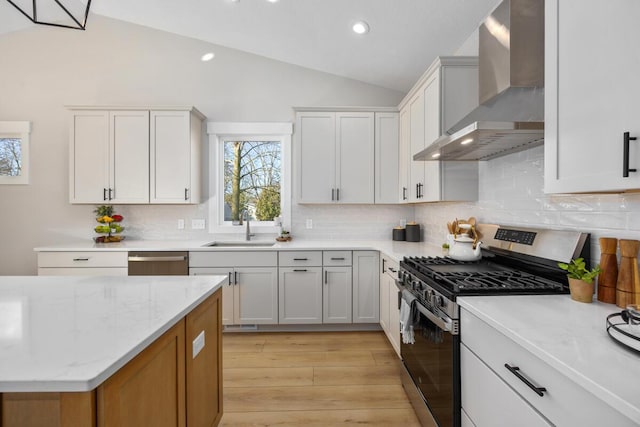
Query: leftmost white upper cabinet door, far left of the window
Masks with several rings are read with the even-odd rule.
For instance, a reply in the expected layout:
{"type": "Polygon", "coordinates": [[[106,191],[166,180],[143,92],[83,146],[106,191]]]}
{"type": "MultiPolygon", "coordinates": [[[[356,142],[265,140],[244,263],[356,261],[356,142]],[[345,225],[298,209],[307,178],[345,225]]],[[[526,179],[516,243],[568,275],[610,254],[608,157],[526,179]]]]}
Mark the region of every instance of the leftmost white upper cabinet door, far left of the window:
{"type": "Polygon", "coordinates": [[[69,202],[104,203],[109,188],[109,113],[74,111],[70,138],[69,202]]]}

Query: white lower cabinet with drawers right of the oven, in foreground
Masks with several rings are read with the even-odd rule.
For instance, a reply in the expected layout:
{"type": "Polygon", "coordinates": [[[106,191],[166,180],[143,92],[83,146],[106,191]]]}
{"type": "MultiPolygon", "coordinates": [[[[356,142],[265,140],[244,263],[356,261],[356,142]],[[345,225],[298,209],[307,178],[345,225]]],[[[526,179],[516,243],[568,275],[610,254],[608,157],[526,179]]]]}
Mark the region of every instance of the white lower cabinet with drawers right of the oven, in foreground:
{"type": "Polygon", "coordinates": [[[462,409],[476,427],[636,425],[468,310],[460,322],[462,409]]]}

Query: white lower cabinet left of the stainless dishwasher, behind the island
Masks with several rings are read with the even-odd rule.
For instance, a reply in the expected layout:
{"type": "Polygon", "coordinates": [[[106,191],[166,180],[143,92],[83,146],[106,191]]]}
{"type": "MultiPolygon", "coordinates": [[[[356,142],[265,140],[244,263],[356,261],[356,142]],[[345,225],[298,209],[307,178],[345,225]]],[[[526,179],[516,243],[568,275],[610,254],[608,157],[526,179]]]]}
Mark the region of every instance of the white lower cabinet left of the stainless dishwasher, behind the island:
{"type": "Polygon", "coordinates": [[[127,252],[38,252],[38,276],[126,276],[127,252]]]}

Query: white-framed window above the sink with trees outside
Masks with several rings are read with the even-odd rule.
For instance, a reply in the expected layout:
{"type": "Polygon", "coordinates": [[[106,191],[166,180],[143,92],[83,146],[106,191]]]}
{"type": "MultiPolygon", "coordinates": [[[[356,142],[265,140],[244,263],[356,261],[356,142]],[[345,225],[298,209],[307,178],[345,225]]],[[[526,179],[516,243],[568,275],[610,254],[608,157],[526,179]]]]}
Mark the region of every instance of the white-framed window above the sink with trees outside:
{"type": "Polygon", "coordinates": [[[209,231],[277,232],[290,224],[291,123],[209,123],[209,231]]]}

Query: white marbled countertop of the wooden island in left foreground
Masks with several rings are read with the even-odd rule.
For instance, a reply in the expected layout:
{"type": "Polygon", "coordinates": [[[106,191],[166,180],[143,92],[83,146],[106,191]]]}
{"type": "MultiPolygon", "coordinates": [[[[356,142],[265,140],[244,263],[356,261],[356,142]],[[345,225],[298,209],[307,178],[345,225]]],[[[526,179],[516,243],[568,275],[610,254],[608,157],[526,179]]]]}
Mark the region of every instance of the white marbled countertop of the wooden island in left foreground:
{"type": "Polygon", "coordinates": [[[95,389],[226,276],[0,276],[0,392],[95,389]]]}

